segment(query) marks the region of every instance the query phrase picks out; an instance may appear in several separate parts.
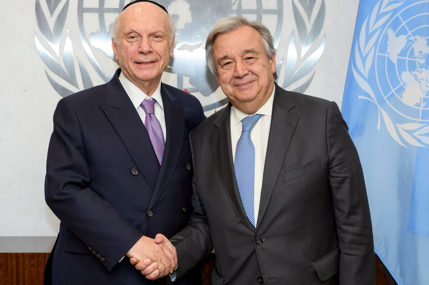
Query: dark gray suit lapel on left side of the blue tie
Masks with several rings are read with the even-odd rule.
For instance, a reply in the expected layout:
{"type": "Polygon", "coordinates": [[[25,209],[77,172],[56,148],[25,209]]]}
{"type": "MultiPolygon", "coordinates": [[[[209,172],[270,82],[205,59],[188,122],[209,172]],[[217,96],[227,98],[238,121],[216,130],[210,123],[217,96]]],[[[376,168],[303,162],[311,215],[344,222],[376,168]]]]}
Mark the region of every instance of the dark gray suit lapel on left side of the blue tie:
{"type": "Polygon", "coordinates": [[[231,148],[230,110],[231,103],[219,111],[221,114],[219,114],[218,118],[213,122],[213,124],[218,127],[218,130],[214,131],[210,136],[211,146],[215,154],[219,175],[221,176],[221,181],[225,191],[227,192],[228,198],[231,200],[240,220],[242,220],[249,229],[255,231],[254,226],[249,221],[243,208],[239,188],[237,187],[231,148]]]}

